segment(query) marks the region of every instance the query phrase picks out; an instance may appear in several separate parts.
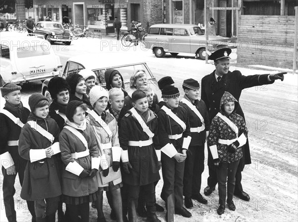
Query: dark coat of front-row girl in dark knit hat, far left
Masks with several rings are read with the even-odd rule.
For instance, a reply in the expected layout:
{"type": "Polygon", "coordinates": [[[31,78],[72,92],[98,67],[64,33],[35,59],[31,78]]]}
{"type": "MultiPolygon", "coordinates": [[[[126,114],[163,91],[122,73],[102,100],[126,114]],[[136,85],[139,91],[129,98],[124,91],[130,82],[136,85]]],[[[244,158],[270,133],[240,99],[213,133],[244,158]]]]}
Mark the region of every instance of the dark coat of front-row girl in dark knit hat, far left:
{"type": "MultiPolygon", "coordinates": [[[[28,121],[30,120],[36,121],[38,125],[55,137],[54,142],[58,142],[60,130],[54,119],[49,116],[45,119],[40,119],[31,112],[28,117],[28,121]]],[[[44,161],[43,164],[38,161],[30,162],[29,152],[31,149],[46,149],[49,146],[51,146],[51,142],[46,137],[31,128],[29,123],[24,125],[18,147],[20,156],[28,160],[21,190],[21,198],[24,200],[41,200],[57,197],[62,193],[60,154],[41,160],[44,161]]]]}

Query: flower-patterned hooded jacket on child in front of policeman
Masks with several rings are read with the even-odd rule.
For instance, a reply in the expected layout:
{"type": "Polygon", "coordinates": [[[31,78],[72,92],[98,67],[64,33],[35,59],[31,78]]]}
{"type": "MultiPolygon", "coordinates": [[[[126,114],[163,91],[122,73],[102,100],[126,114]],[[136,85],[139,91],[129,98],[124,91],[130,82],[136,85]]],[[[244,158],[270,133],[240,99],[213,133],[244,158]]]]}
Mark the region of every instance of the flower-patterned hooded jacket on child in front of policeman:
{"type": "MultiPolygon", "coordinates": [[[[238,136],[244,133],[245,137],[247,138],[248,130],[245,125],[245,121],[239,114],[235,113],[238,107],[237,100],[228,92],[224,93],[224,96],[221,100],[220,104],[220,112],[229,118],[237,127],[238,127],[238,136]],[[224,112],[223,105],[227,102],[233,101],[235,103],[235,109],[230,114],[227,115],[224,112]]],[[[208,136],[208,145],[213,146],[217,145],[218,155],[220,162],[222,163],[231,163],[240,160],[242,157],[242,149],[238,147],[235,153],[228,152],[228,145],[218,143],[219,139],[223,140],[232,140],[235,139],[236,133],[232,130],[232,128],[219,116],[215,116],[212,119],[212,123],[210,126],[209,136],[208,136]]]]}

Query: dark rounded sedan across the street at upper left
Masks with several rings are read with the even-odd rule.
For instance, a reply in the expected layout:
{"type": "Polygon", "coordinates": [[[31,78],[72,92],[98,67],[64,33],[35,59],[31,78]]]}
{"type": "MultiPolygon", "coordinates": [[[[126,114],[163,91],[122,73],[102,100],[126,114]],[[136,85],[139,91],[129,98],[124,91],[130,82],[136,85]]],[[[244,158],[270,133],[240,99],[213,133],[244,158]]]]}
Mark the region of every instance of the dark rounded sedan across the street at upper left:
{"type": "Polygon", "coordinates": [[[54,42],[63,42],[66,45],[71,45],[73,40],[72,34],[69,32],[69,30],[64,29],[60,22],[37,22],[34,33],[43,35],[51,44],[54,42]]]}

